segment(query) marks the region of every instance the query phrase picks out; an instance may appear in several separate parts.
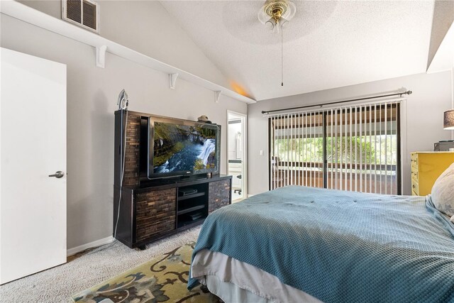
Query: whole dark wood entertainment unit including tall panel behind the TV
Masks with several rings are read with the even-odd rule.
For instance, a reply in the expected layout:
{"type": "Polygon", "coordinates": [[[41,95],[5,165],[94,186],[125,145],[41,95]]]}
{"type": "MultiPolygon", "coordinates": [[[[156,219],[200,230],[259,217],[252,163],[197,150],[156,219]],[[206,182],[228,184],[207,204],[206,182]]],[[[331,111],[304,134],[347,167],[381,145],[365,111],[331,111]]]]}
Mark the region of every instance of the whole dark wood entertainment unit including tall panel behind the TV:
{"type": "Polygon", "coordinates": [[[231,204],[231,176],[194,175],[161,180],[143,177],[140,125],[149,115],[133,111],[128,112],[125,175],[120,188],[121,123],[126,121],[122,114],[115,113],[113,234],[118,241],[130,248],[143,249],[147,243],[202,224],[212,211],[231,204]]]}

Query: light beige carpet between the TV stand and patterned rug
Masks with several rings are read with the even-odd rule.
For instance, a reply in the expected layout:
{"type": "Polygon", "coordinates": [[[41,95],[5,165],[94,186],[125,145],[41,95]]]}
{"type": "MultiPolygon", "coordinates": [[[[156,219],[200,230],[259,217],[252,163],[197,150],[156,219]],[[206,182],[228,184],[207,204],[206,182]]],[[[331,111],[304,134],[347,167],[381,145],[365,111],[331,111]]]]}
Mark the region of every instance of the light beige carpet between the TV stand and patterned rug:
{"type": "Polygon", "coordinates": [[[164,240],[145,250],[134,250],[116,241],[110,248],[82,255],[64,265],[23,277],[0,286],[0,302],[72,302],[72,294],[97,285],[190,241],[196,241],[200,226],[164,240]]]}

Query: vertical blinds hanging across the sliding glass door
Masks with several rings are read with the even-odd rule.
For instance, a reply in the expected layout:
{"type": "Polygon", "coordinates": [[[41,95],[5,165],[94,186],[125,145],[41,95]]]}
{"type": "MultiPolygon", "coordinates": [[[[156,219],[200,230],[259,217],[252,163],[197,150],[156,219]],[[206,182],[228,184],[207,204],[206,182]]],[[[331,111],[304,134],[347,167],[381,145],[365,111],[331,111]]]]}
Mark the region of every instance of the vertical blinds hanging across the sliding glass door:
{"type": "Polygon", "coordinates": [[[399,101],[269,116],[270,189],[400,194],[399,101]]]}

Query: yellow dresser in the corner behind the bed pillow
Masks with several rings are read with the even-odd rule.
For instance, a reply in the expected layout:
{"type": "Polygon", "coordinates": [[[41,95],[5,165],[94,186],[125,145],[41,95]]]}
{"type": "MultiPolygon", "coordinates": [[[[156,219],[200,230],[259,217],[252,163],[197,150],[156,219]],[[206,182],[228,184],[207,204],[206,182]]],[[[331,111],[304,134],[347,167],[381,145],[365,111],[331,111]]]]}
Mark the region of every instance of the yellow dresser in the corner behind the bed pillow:
{"type": "Polygon", "coordinates": [[[438,176],[453,162],[454,152],[411,153],[411,194],[430,194],[438,176]]]}

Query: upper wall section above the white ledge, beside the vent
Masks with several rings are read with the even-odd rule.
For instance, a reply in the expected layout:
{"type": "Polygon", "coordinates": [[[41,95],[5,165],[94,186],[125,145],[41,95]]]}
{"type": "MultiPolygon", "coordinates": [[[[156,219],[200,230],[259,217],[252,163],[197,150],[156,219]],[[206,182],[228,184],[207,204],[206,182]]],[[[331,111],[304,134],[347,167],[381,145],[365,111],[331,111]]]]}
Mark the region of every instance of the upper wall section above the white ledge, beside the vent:
{"type": "MultiPolygon", "coordinates": [[[[23,4],[61,18],[61,0],[23,4]]],[[[228,81],[159,1],[97,0],[100,35],[223,87],[228,81]]]]}

